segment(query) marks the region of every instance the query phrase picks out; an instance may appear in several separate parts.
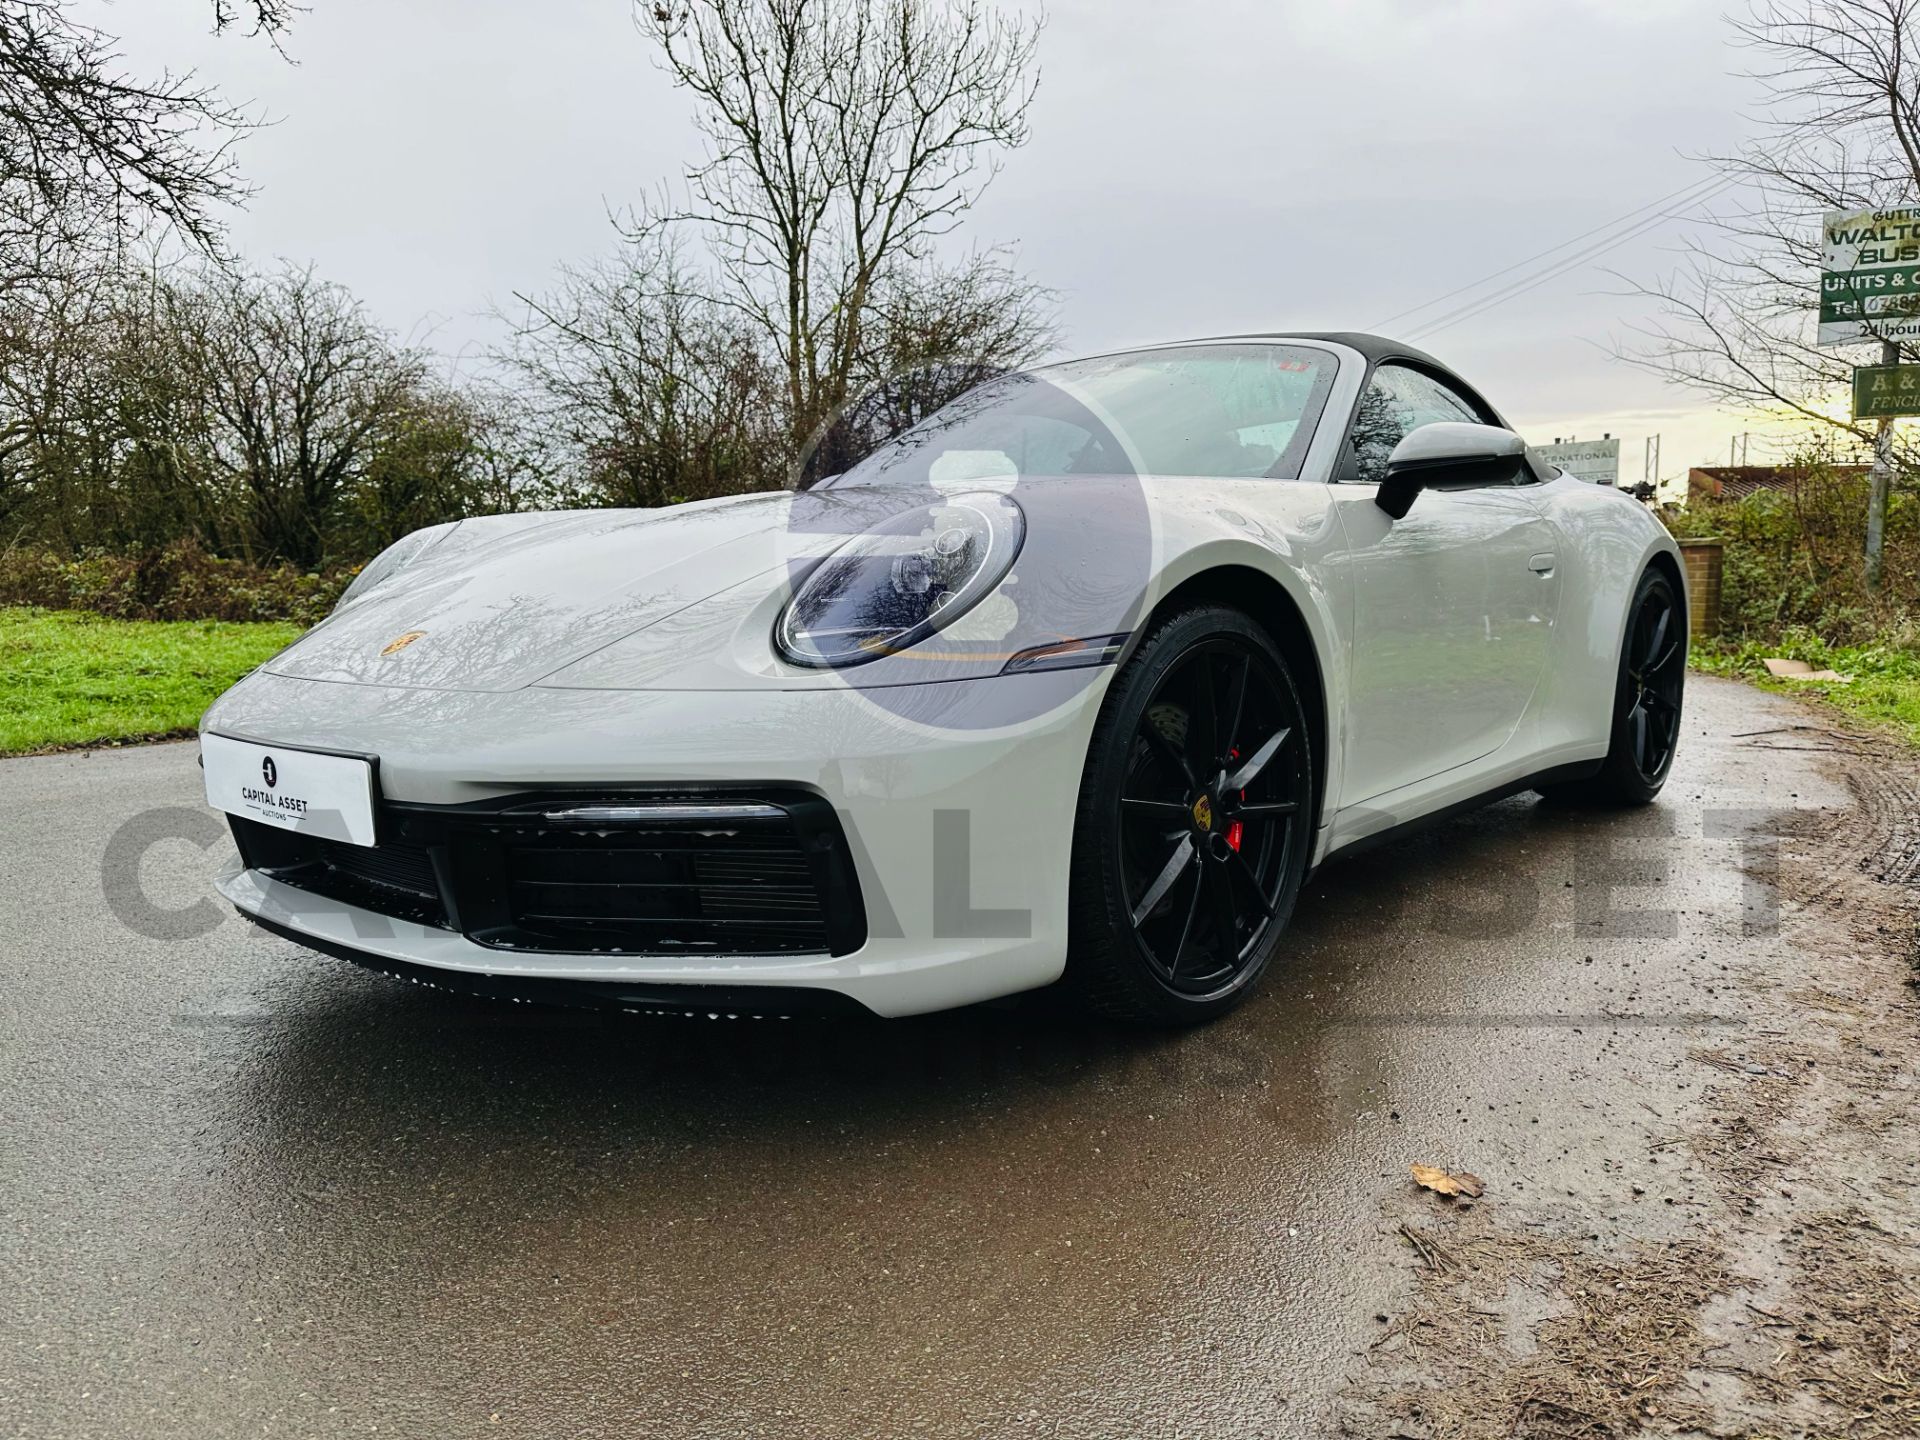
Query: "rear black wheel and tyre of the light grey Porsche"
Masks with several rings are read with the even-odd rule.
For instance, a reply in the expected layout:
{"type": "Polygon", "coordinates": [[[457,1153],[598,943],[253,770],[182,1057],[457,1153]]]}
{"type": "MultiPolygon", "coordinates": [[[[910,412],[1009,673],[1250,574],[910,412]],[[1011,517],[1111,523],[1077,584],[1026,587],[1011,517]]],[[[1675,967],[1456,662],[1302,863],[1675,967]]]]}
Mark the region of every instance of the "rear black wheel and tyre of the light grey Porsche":
{"type": "Polygon", "coordinates": [[[1672,770],[1686,691],[1686,605],[1667,572],[1649,568],[1626,616],[1607,758],[1592,780],[1542,787],[1549,801],[1651,804],[1672,770]]]}

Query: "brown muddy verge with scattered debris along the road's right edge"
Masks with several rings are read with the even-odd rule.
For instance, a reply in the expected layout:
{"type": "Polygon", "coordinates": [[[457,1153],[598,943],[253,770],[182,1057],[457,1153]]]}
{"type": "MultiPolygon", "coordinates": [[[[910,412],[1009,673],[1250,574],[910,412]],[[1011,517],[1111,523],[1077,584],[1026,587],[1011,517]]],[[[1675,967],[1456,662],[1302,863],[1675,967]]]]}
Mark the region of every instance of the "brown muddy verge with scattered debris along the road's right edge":
{"type": "Polygon", "coordinates": [[[1734,820],[1764,891],[1705,987],[1740,1023],[1678,1062],[1697,1096],[1649,1089],[1565,1204],[1402,1196],[1419,1279],[1348,1432],[1920,1436],[1920,770],[1772,718],[1732,743],[1843,799],[1734,820]]]}

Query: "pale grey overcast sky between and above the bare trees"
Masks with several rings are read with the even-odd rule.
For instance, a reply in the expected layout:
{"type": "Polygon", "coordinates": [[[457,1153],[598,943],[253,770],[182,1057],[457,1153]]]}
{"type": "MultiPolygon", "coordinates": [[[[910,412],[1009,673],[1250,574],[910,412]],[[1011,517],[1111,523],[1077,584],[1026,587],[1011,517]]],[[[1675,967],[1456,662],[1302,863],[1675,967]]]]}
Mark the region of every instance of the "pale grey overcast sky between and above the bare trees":
{"type": "MultiPolygon", "coordinates": [[[[1377,328],[1705,179],[1692,156],[1738,142],[1755,98],[1728,2],[1052,0],[1033,140],[964,234],[1060,292],[1068,351],[1377,328]]],[[[697,152],[626,0],[309,4],[292,65],[213,38],[209,0],[79,10],[131,67],[194,67],[276,121],[240,152],[246,255],[311,261],[447,355],[605,252],[607,209],[697,152]]],[[[1530,440],[1624,436],[1624,482],[1651,432],[1668,476],[1724,463],[1747,422],[1607,357],[1645,311],[1599,267],[1653,278],[1686,232],[1661,223],[1425,344],[1530,440]]]]}

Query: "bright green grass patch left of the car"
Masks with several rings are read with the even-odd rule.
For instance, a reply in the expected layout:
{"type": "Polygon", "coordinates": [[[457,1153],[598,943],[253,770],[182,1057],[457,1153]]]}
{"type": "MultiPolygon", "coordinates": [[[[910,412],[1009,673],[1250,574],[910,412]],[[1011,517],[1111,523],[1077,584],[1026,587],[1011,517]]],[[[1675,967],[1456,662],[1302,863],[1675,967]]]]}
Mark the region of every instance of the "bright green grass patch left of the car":
{"type": "Polygon", "coordinates": [[[298,634],[284,622],[0,609],[0,755],[188,733],[298,634]]]}

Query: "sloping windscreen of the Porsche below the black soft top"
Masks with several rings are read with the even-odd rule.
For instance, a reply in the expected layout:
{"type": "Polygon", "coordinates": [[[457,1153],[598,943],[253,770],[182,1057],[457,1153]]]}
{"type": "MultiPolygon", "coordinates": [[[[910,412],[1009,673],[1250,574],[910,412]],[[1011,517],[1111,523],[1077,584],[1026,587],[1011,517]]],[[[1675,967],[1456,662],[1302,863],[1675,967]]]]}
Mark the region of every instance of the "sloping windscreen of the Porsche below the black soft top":
{"type": "Polygon", "coordinates": [[[1069,474],[1298,478],[1338,361],[1300,346],[1188,346],[991,380],[833,486],[1069,474]]]}

